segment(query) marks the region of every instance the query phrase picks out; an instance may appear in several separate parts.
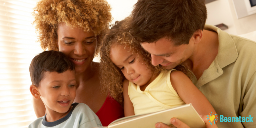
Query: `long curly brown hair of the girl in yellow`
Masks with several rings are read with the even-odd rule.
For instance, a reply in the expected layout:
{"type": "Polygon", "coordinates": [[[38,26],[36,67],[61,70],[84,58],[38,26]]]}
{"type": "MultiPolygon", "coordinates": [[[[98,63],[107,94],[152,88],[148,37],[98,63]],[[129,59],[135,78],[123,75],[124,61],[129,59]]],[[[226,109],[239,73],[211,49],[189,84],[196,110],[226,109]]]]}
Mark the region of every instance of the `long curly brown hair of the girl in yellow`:
{"type": "MultiPolygon", "coordinates": [[[[125,49],[131,51],[133,54],[138,54],[143,61],[143,64],[154,73],[166,71],[162,66],[153,66],[151,64],[151,55],[147,53],[131,35],[131,18],[127,17],[122,21],[116,21],[111,25],[111,29],[104,36],[100,45],[100,72],[101,72],[101,85],[103,90],[108,90],[113,98],[122,102],[123,81],[125,79],[122,71],[110,59],[110,48],[112,45],[123,45],[125,49]]],[[[124,49],[124,50],[125,50],[124,49]]],[[[138,59],[137,58],[137,59],[138,59]]],[[[175,69],[188,74],[188,69],[183,65],[178,65],[175,69]]],[[[191,78],[191,77],[190,77],[191,78]]]]}

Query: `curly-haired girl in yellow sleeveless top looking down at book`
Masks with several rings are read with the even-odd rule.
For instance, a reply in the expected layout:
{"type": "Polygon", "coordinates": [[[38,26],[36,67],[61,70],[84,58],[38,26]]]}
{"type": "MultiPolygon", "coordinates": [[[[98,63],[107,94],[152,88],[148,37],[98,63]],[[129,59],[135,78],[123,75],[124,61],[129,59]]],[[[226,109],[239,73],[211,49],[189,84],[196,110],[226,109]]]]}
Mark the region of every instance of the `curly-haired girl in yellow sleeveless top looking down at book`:
{"type": "Polygon", "coordinates": [[[130,35],[129,22],[117,21],[100,46],[102,85],[114,98],[123,92],[125,116],[189,103],[200,115],[215,113],[184,66],[166,71],[151,65],[150,55],[130,35]]]}

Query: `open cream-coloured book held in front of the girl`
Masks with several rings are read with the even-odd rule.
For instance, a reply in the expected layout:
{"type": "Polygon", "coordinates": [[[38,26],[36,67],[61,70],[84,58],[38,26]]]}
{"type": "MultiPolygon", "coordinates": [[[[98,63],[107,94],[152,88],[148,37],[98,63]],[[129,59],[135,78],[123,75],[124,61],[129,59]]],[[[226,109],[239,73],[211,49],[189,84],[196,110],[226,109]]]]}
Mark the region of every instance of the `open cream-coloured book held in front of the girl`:
{"type": "Polygon", "coordinates": [[[157,122],[170,125],[170,119],[176,117],[190,128],[204,128],[205,123],[192,104],[185,104],[170,109],[143,115],[123,117],[110,123],[108,127],[97,128],[155,128],[157,122]]]}

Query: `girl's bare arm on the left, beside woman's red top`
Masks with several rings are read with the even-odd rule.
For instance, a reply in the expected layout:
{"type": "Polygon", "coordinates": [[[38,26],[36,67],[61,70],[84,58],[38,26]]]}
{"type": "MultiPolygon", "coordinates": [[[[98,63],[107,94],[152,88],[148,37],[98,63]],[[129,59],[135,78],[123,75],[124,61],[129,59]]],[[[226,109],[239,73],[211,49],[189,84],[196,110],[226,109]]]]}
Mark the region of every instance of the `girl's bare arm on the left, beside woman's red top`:
{"type": "Polygon", "coordinates": [[[128,95],[128,86],[129,81],[127,79],[124,80],[123,89],[124,89],[124,116],[132,116],[134,114],[133,104],[128,95]]]}

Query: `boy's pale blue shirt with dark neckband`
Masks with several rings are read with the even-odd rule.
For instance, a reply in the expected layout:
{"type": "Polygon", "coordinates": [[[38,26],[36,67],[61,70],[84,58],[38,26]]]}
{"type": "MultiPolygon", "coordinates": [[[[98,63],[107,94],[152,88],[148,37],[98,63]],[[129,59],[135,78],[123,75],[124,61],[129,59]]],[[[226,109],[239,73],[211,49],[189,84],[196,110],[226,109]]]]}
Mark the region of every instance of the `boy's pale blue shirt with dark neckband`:
{"type": "Polygon", "coordinates": [[[63,118],[47,122],[46,114],[37,118],[28,128],[92,128],[102,126],[98,116],[83,103],[73,103],[70,112],[63,118]]]}

